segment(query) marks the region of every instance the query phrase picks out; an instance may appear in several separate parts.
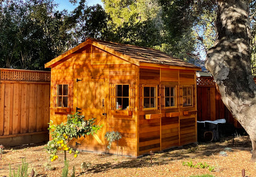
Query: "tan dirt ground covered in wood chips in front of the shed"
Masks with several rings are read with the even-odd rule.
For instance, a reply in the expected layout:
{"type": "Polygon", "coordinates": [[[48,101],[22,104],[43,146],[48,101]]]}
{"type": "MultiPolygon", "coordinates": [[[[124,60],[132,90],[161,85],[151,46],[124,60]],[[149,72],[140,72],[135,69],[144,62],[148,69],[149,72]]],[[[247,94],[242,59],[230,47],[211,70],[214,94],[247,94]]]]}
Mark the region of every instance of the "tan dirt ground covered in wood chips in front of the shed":
{"type": "MultiPolygon", "coordinates": [[[[36,171],[36,176],[62,176],[64,167],[63,154],[50,162],[45,144],[33,144],[15,148],[6,148],[0,160],[0,176],[9,176],[9,164],[17,171],[22,165],[22,159],[36,171]]],[[[110,154],[95,154],[81,152],[76,159],[70,154],[69,175],[75,167],[75,176],[242,176],[242,169],[246,176],[256,176],[256,163],[250,162],[251,145],[248,136],[225,138],[217,143],[190,144],[167,152],[145,155],[140,158],[124,157],[110,154]],[[231,149],[230,149],[231,148],[231,149]],[[183,165],[183,162],[185,165],[183,165]],[[201,167],[188,167],[202,163],[201,167]],[[81,168],[82,163],[86,164],[81,168]],[[209,165],[214,170],[210,171],[209,165]]]]}

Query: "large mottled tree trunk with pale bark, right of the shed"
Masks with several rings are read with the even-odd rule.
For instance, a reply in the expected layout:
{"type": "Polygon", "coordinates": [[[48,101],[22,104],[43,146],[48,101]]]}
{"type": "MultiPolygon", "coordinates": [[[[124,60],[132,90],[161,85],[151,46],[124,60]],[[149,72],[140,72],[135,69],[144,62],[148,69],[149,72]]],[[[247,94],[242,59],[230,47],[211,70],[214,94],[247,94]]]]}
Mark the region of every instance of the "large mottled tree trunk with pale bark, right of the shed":
{"type": "Polygon", "coordinates": [[[248,0],[218,0],[217,40],[207,52],[206,68],[214,76],[222,101],[252,141],[256,162],[256,85],[250,69],[248,0]]]}

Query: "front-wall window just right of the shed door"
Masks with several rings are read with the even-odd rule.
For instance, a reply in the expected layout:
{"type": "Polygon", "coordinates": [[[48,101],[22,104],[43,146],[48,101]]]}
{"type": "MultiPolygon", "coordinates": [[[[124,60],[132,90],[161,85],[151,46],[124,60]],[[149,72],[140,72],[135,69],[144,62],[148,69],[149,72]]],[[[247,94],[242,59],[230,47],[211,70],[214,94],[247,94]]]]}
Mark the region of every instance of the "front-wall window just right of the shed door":
{"type": "Polygon", "coordinates": [[[129,107],[129,85],[116,85],[116,109],[127,110],[129,107]]]}

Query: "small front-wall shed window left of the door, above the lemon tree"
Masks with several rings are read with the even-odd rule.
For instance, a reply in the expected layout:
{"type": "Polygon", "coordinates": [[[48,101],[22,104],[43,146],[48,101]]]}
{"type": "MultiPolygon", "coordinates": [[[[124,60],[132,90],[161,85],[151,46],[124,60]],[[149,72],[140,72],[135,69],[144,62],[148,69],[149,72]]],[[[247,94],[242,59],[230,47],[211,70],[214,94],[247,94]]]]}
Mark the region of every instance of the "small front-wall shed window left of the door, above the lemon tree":
{"type": "Polygon", "coordinates": [[[57,107],[68,107],[68,85],[60,84],[57,86],[57,107]]]}

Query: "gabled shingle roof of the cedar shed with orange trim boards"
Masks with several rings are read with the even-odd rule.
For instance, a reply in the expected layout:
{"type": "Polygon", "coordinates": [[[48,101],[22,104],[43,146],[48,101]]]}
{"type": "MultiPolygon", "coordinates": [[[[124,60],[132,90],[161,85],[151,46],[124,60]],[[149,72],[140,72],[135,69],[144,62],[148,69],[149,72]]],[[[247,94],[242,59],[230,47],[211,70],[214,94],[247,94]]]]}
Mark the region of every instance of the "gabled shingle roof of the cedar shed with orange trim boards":
{"type": "Polygon", "coordinates": [[[58,65],[58,63],[60,63],[62,60],[65,61],[65,58],[68,57],[68,55],[71,55],[72,53],[89,44],[94,45],[99,49],[105,50],[106,52],[116,55],[123,60],[129,61],[130,63],[138,66],[142,65],[142,63],[151,63],[156,65],[182,66],[185,68],[188,67],[201,70],[201,68],[198,66],[187,63],[186,61],[180,60],[179,58],[172,57],[171,55],[168,55],[167,53],[161,52],[159,50],[146,47],[138,47],[136,45],[100,41],[92,38],[87,38],[86,41],[82,42],[78,46],[49,61],[46,63],[45,67],[52,68],[58,65]]]}

